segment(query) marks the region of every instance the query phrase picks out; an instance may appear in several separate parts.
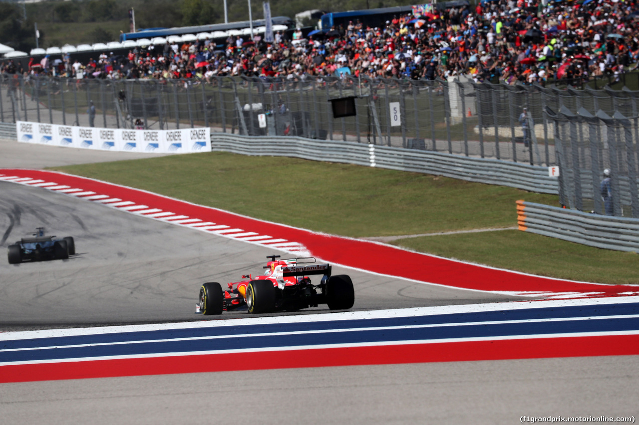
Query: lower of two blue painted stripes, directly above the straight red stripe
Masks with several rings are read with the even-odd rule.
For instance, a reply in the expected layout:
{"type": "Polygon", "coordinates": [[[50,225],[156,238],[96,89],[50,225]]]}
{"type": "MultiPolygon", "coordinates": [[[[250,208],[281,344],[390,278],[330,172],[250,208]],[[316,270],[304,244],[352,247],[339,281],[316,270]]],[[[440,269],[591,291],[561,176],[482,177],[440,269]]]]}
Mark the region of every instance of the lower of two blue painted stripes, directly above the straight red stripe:
{"type": "MultiPolygon", "coordinates": [[[[618,313],[618,312],[617,312],[618,313]]],[[[467,318],[466,318],[467,319],[467,318]]],[[[502,320],[504,318],[502,317],[502,320]]],[[[352,324],[351,324],[352,325],[352,324]]],[[[388,325],[388,323],[386,323],[388,325]]],[[[395,324],[397,325],[397,324],[395,324]]],[[[412,324],[414,325],[414,323],[412,324]]],[[[406,326],[410,326],[406,324],[406,326]]],[[[279,329],[278,332],[281,332],[279,329]]],[[[562,334],[588,334],[639,332],[639,317],[576,318],[541,322],[514,322],[479,325],[442,325],[437,327],[394,327],[394,329],[334,329],[324,332],[296,332],[293,334],[257,334],[254,336],[227,335],[220,338],[128,342],[83,347],[33,348],[0,352],[0,364],[6,362],[56,361],[89,357],[129,357],[137,355],[211,352],[220,350],[263,350],[289,347],[316,347],[318,345],[361,345],[440,339],[530,338],[535,336],[561,336],[562,334]]]]}

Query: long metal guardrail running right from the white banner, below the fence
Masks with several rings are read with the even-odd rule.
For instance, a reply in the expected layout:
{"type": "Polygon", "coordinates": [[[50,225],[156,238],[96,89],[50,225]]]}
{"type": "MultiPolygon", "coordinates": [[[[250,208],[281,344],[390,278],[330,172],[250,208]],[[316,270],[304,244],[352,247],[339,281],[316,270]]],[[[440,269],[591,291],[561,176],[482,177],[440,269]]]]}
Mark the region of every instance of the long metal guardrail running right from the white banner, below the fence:
{"type": "Polygon", "coordinates": [[[245,137],[229,133],[211,133],[211,147],[213,151],[349,163],[558,194],[557,179],[548,177],[548,168],[486,158],[357,142],[302,137],[245,137]]]}

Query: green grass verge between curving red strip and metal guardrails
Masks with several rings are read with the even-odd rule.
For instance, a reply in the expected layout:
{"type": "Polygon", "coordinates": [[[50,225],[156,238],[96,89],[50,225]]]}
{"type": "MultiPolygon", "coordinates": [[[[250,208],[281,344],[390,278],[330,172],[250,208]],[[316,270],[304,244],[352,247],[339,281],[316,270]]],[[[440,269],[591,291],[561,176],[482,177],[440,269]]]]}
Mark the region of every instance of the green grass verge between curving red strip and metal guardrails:
{"type": "MultiPolygon", "coordinates": [[[[56,167],[262,220],[350,237],[516,226],[516,200],[557,197],[426,174],[296,158],[198,153],[56,167]]],[[[401,239],[412,250],[504,269],[636,283],[636,254],[503,230],[401,239]]]]}

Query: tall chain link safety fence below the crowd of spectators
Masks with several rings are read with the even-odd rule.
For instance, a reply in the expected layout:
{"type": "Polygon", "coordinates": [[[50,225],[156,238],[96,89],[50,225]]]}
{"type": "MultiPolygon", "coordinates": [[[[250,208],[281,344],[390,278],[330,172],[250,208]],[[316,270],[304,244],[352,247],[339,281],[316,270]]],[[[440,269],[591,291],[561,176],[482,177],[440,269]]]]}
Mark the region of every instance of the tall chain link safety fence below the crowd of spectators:
{"type": "Polygon", "coordinates": [[[466,77],[428,81],[350,75],[286,80],[1,75],[0,88],[4,123],[210,127],[212,133],[343,140],[560,165],[562,204],[580,211],[603,211],[597,185],[603,169],[612,168],[617,177],[614,214],[639,217],[637,91],[477,84],[466,77]],[[355,99],[357,114],[335,119],[330,100],[348,96],[355,99]]]}

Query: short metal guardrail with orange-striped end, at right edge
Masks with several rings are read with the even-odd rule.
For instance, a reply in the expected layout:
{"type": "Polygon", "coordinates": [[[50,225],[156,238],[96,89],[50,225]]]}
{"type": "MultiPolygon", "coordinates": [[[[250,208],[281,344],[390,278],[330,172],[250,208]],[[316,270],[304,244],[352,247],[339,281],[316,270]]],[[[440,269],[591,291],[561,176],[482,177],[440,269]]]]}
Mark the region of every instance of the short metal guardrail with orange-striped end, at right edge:
{"type": "Polygon", "coordinates": [[[517,201],[520,230],[606,250],[639,252],[639,219],[517,201]]]}

